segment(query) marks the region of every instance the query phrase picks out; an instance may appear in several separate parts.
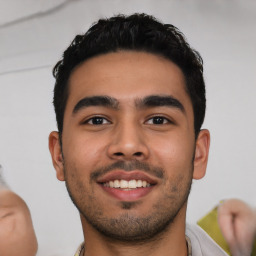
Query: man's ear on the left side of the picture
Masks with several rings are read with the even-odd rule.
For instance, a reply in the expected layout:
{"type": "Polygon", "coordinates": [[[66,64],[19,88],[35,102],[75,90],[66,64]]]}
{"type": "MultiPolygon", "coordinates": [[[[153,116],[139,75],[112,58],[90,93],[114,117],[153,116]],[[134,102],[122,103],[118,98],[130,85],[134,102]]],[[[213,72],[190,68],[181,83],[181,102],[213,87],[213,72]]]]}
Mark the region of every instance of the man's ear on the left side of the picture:
{"type": "Polygon", "coordinates": [[[52,156],[52,164],[56,170],[57,179],[65,180],[63,157],[60,146],[60,138],[58,132],[51,132],[49,135],[49,150],[52,156]]]}

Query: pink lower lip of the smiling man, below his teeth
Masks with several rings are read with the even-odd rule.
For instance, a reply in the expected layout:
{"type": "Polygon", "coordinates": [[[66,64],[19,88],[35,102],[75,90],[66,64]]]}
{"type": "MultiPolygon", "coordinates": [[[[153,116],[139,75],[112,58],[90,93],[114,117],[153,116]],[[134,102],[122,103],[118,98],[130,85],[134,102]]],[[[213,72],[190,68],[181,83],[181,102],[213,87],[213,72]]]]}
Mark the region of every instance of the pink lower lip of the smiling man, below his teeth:
{"type": "Polygon", "coordinates": [[[106,191],[111,196],[122,201],[136,201],[144,196],[146,196],[154,186],[146,188],[135,188],[131,190],[122,190],[116,188],[105,187],[100,185],[104,191],[106,191]]]}

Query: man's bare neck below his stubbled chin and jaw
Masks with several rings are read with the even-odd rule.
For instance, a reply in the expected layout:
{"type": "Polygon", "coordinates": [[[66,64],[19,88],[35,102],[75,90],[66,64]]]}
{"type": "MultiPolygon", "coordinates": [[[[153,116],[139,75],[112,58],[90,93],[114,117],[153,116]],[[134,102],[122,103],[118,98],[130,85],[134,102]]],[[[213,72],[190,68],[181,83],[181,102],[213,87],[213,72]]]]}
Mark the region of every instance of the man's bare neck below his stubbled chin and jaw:
{"type": "Polygon", "coordinates": [[[143,242],[123,242],[110,239],[81,217],[85,250],[82,256],[186,256],[185,214],[180,212],[162,233],[143,242]]]}

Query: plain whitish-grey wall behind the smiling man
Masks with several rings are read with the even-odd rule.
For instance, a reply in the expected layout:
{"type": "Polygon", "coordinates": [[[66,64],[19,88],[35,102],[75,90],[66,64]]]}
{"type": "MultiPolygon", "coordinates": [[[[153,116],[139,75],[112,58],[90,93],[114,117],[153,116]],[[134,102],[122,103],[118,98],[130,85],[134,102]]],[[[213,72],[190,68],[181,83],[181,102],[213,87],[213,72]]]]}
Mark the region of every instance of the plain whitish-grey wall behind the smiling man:
{"type": "Polygon", "coordinates": [[[78,213],[48,152],[56,129],[51,69],[92,22],[133,12],[176,25],[204,59],[211,152],[206,177],[194,182],[188,221],[223,198],[256,206],[255,1],[0,0],[0,164],[31,209],[38,256],[73,255],[82,241],[78,213]]]}

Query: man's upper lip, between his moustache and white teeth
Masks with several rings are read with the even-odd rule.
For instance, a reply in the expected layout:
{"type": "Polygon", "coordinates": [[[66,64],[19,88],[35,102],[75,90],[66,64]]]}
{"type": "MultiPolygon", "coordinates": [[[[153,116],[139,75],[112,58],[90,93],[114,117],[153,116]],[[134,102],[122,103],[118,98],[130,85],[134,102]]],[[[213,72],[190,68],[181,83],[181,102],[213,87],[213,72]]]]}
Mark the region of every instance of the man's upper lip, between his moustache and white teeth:
{"type": "Polygon", "coordinates": [[[157,183],[157,178],[153,178],[149,176],[147,173],[143,171],[111,171],[102,177],[99,177],[97,179],[98,183],[106,183],[109,181],[114,181],[114,180],[145,180],[149,184],[156,184],[157,183]]]}

